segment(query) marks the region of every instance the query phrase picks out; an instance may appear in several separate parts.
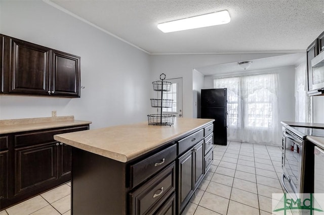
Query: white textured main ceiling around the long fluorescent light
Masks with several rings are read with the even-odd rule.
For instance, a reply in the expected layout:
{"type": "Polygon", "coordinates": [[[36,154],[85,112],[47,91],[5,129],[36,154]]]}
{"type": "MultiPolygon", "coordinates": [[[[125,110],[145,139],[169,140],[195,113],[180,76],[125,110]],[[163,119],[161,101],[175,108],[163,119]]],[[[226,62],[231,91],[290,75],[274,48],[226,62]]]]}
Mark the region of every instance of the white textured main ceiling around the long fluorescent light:
{"type": "Polygon", "coordinates": [[[300,52],[324,30],[324,0],[51,2],[152,54],[300,52]],[[156,27],[222,10],[228,10],[229,24],[172,33],[156,27]]]}

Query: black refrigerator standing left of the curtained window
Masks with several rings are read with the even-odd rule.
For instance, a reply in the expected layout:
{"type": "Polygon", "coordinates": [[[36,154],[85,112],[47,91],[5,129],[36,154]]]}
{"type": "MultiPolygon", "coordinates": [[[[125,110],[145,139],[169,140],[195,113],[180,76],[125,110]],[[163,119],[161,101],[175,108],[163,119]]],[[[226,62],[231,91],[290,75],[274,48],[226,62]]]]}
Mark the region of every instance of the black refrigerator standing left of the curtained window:
{"type": "Polygon", "coordinates": [[[227,145],[227,88],[201,89],[201,118],[215,119],[214,144],[227,145]]]}

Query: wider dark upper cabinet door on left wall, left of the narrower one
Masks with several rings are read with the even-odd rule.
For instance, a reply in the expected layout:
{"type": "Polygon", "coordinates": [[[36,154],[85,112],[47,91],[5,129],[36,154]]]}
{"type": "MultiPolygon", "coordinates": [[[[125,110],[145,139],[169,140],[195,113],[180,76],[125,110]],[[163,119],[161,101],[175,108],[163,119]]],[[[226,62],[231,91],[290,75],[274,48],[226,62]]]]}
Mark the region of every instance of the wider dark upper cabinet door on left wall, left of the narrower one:
{"type": "Polygon", "coordinates": [[[8,40],[9,93],[48,94],[51,49],[15,38],[8,40]]]}

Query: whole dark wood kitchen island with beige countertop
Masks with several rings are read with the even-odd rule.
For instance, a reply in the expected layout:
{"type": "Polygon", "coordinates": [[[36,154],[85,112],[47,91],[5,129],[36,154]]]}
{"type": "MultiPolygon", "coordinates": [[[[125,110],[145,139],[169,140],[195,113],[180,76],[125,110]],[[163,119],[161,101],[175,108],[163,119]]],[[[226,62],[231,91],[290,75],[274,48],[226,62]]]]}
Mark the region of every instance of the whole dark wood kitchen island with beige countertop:
{"type": "Polygon", "coordinates": [[[212,119],[55,135],[72,148],[72,214],[179,214],[213,161],[212,119]]]}

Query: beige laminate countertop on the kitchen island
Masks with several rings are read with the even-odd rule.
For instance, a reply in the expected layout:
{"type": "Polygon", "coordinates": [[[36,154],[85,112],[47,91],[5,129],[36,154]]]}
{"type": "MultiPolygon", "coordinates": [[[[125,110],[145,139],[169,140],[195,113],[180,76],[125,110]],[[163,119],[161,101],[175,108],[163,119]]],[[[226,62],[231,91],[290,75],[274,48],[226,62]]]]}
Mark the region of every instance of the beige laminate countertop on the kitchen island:
{"type": "Polygon", "coordinates": [[[54,139],[126,163],[214,121],[213,119],[176,118],[172,126],[153,126],[141,122],[59,134],[54,135],[54,139]]]}

